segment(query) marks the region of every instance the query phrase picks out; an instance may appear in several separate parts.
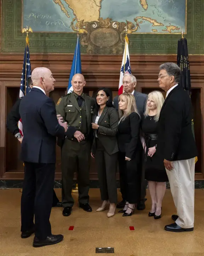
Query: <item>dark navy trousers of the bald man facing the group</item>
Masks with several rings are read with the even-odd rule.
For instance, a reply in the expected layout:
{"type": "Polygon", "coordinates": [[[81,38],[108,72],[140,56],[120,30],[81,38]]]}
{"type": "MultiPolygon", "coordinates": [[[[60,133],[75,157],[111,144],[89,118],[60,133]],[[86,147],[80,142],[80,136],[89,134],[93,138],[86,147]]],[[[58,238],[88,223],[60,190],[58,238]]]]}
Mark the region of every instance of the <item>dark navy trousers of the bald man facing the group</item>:
{"type": "Polygon", "coordinates": [[[34,226],[42,240],[51,235],[50,213],[53,200],[55,164],[24,162],[25,176],[21,196],[21,231],[34,226]]]}

